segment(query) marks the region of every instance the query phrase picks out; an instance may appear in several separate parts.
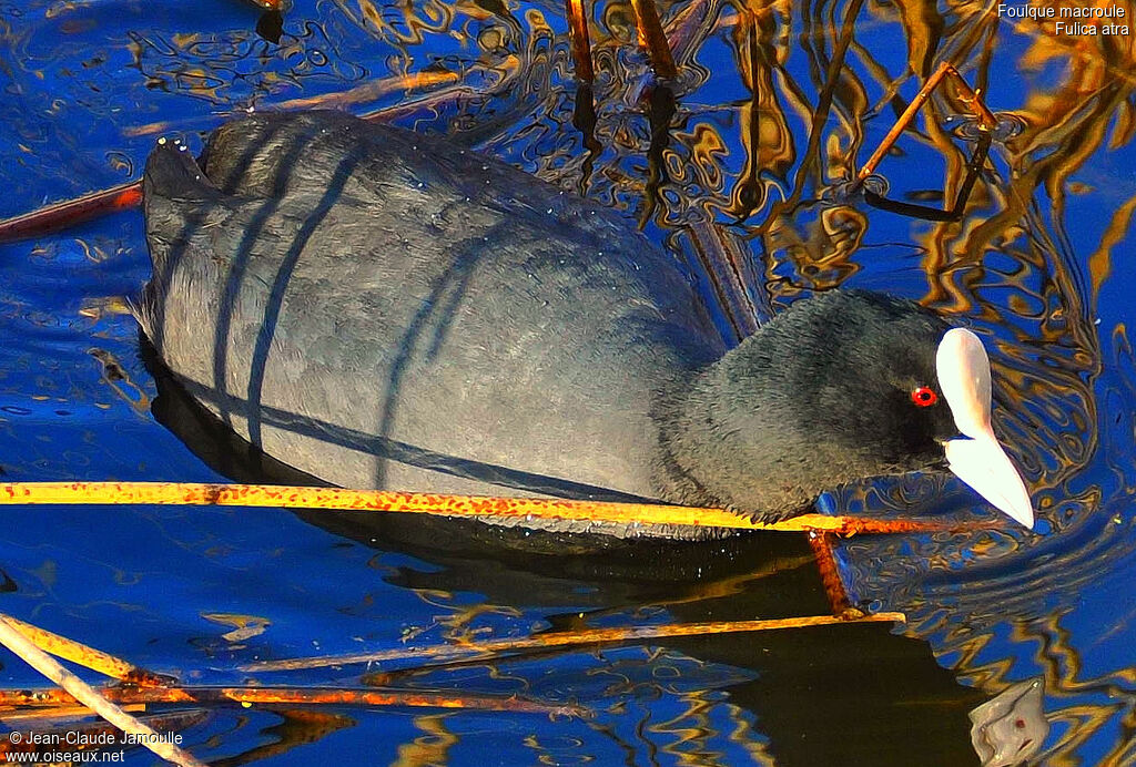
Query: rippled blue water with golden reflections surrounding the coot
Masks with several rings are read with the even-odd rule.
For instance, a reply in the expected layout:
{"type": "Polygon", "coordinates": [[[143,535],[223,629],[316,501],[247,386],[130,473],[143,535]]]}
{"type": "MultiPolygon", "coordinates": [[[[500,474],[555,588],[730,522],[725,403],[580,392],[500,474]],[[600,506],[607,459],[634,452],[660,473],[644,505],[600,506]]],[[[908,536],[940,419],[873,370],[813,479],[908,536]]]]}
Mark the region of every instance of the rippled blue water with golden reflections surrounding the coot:
{"type": "MultiPolygon", "coordinates": [[[[653,83],[630,5],[600,1],[587,91],[571,78],[560,2],[307,0],[285,14],[278,43],[257,33],[251,3],[0,3],[0,174],[22,191],[0,199],[0,214],[135,178],[156,135],[200,145],[227,115],[327,104],[451,134],[625,212],[683,254],[727,337],[838,285],[954,314],[996,352],[997,425],[1046,534],[857,538],[841,558],[855,599],[907,612],[907,633],[974,690],[920,666],[921,646],[878,627],[674,642],[383,669],[392,684],[576,699],[602,709],[595,722],[257,711],[207,725],[215,756],[237,764],[320,741],[324,753],[408,765],[471,761],[477,749],[521,764],[817,765],[841,755],[959,765],[977,758],[967,713],[1036,677],[1049,724],[1038,760],[1136,764],[1136,275],[1124,258],[1136,211],[1126,170],[1136,165],[1133,37],[1056,36],[967,1],[658,5],[682,66],[676,82],[653,83]],[[875,210],[846,182],[942,60],[1004,118],[966,216],[875,210]],[[817,666],[824,673],[810,674],[817,666]],[[880,667],[886,690],[838,692],[858,680],[878,690],[880,667]],[[805,706],[825,724],[793,702],[809,690],[805,706]],[[828,699],[843,706],[819,702],[828,699]],[[794,740],[801,732],[810,738],[794,740]]],[[[975,138],[967,113],[950,88],[927,104],[880,165],[888,196],[954,200],[975,138]]],[[[145,414],[153,384],[112,300],[145,279],[144,250],[134,213],[0,250],[10,277],[0,280],[6,479],[216,477],[145,414]]],[[[866,514],[974,507],[939,477],[835,498],[866,514]]],[[[12,612],[143,665],[208,661],[219,676],[258,655],[360,643],[826,609],[800,541],[732,543],[665,566],[661,553],[625,553],[629,564],[605,553],[563,567],[535,555],[512,562],[452,530],[324,524],[358,545],[270,513],[25,509],[5,536],[0,590],[22,600],[12,612]],[[652,582],[663,572],[673,580],[652,582]],[[161,598],[148,601],[135,584],[161,598]],[[268,627],[231,641],[202,617],[215,613],[268,627]],[[108,630],[124,620],[139,626],[125,643],[108,630]]],[[[1016,722],[1003,725],[1017,733],[1016,722]]],[[[987,764],[1012,764],[999,758],[987,764]]]]}

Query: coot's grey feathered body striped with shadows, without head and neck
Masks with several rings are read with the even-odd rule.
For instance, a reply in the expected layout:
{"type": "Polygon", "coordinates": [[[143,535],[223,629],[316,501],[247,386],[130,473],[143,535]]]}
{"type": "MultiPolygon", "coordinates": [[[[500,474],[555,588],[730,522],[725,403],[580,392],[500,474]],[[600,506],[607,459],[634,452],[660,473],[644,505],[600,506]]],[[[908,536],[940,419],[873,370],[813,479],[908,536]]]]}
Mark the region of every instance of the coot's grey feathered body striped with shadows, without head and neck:
{"type": "Polygon", "coordinates": [[[654,397],[724,345],[626,222],[336,112],[228,124],[203,166],[148,165],[140,319],[239,433],[344,486],[653,494],[654,397]]]}

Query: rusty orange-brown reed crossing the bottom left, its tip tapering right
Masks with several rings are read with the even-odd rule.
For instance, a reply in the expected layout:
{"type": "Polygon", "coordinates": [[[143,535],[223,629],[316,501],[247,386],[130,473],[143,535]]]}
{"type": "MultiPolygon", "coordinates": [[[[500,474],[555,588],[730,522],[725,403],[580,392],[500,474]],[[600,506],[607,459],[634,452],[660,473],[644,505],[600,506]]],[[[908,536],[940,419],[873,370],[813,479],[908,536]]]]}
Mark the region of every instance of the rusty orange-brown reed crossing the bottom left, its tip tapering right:
{"type": "MultiPolygon", "coordinates": [[[[97,694],[116,703],[241,703],[276,706],[402,706],[408,708],[479,709],[560,716],[586,716],[587,709],[571,705],[548,705],[516,696],[467,696],[460,692],[395,692],[373,688],[289,686],[168,686],[101,688],[97,694]]],[[[0,690],[0,707],[55,707],[74,702],[75,696],[60,690],[0,690]]],[[[84,701],[85,702],[85,701],[84,701]]],[[[114,723],[115,726],[120,726],[114,723]]],[[[168,757],[166,757],[168,758],[168,757]]],[[[200,762],[192,762],[200,765],[200,762]]]]}

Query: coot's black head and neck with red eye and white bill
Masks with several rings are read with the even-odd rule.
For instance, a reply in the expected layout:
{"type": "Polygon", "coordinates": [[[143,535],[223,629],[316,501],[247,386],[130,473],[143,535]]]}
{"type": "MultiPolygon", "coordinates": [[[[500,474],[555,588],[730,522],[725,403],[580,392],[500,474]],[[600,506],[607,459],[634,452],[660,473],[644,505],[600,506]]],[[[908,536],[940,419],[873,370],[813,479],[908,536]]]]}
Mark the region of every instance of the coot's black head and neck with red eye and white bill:
{"type": "Polygon", "coordinates": [[[673,407],[674,475],[718,503],[777,519],[843,482],[946,466],[1033,526],[991,425],[982,340],[910,301],[862,290],[799,301],[673,407]]]}

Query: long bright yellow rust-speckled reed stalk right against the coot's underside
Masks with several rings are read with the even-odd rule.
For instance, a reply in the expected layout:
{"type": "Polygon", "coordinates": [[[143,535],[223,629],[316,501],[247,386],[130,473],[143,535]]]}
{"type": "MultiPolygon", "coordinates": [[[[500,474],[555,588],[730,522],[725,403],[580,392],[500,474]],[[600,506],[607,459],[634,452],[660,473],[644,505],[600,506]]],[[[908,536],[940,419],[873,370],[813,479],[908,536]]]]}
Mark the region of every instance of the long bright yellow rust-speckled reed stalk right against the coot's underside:
{"type": "MultiPolygon", "coordinates": [[[[939,532],[972,530],[975,523],[917,520],[868,520],[802,514],[780,522],[754,522],[721,508],[620,504],[563,498],[491,498],[390,490],[286,487],[276,484],[201,484],[193,482],[11,482],[0,484],[0,505],[173,505],[307,508],[344,512],[401,512],[501,520],[569,520],[621,524],[673,524],[778,532],[939,532]]],[[[987,529],[991,523],[978,523],[987,529]]],[[[997,525],[994,525],[997,526],[997,525]]]]}

